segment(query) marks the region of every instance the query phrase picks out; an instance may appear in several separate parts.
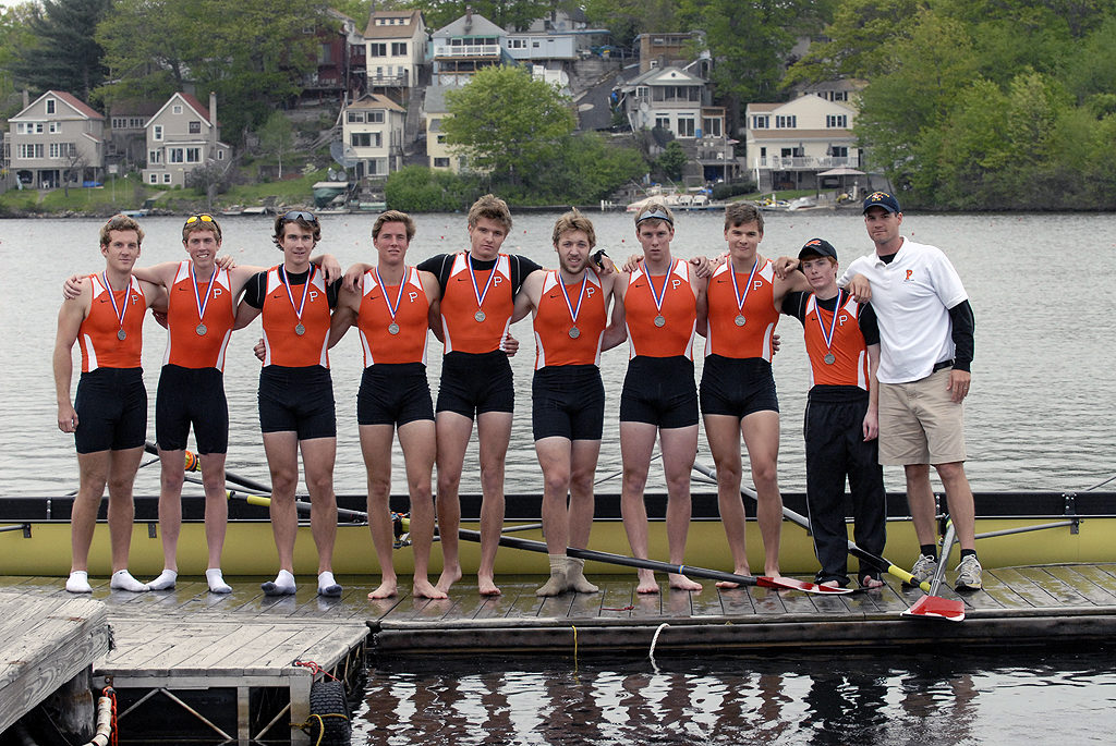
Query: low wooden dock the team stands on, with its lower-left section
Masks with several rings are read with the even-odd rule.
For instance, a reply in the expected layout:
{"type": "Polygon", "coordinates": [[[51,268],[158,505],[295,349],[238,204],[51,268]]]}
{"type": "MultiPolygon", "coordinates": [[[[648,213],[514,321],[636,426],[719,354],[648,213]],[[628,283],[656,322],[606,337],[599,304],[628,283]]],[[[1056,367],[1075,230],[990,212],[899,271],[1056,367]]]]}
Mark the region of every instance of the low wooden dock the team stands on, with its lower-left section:
{"type": "MultiPolygon", "coordinates": [[[[947,573],[952,579],[953,573],[947,573]]],[[[4,597],[89,603],[67,597],[57,578],[7,578],[4,597]]],[[[218,736],[244,743],[298,743],[290,724],[306,720],[314,660],[355,678],[367,657],[507,655],[646,655],[694,649],[878,648],[1090,643],[1116,634],[1116,564],[985,569],[985,588],[959,595],[965,620],[903,618],[922,592],[887,580],[847,595],[760,588],[700,593],[635,593],[635,577],[596,575],[595,594],[540,599],[539,577],[498,578],[503,594],[482,598],[469,578],[443,601],[367,599],[378,578],[340,578],[345,594],[321,599],[312,581],[295,597],[266,598],[260,579],[233,578],[215,595],[204,582],[173,591],[123,593],[107,584],[94,598],[107,609],[116,649],[95,665],[119,697],[122,743],[158,723],[161,734],[218,736]],[[179,707],[171,707],[175,703],[179,707]],[[202,725],[199,726],[199,723],[202,725]],[[191,730],[191,728],[193,728],[191,730]],[[199,730],[201,728],[201,730],[199,730]]],[[[408,579],[401,578],[407,589],[408,579]]],[[[25,602],[19,602],[25,608],[25,602]]],[[[28,607],[29,608],[29,607],[28,607]]],[[[23,618],[25,626],[33,622],[23,618]]]]}

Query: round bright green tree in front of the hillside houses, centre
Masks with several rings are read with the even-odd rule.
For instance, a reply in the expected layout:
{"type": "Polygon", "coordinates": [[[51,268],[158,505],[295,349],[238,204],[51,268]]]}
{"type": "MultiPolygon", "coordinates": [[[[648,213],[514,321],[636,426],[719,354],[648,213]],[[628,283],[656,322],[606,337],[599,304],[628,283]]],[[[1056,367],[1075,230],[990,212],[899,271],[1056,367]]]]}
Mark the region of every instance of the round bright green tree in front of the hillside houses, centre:
{"type": "Polygon", "coordinates": [[[575,127],[569,98],[519,67],[479,70],[445,101],[453,115],[442,122],[446,143],[493,184],[533,185],[575,127]]]}

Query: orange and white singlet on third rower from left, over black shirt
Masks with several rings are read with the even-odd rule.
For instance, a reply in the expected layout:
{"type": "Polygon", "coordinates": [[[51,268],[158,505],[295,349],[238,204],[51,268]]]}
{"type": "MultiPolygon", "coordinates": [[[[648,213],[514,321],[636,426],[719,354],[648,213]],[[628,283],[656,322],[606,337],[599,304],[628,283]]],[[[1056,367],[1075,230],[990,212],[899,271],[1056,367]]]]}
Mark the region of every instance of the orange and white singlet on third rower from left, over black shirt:
{"type": "Polygon", "coordinates": [[[279,270],[268,270],[267,296],[263,297],[263,365],[288,368],[329,367],[329,299],[326,275],[310,267],[309,287],[287,288],[279,270]],[[289,292],[288,292],[289,291],[289,292]],[[305,291],[305,304],[302,303],[305,291]],[[294,300],[292,300],[294,299],[294,300]],[[298,308],[302,306],[299,318],[298,308]],[[302,333],[298,333],[298,329],[302,333]]]}

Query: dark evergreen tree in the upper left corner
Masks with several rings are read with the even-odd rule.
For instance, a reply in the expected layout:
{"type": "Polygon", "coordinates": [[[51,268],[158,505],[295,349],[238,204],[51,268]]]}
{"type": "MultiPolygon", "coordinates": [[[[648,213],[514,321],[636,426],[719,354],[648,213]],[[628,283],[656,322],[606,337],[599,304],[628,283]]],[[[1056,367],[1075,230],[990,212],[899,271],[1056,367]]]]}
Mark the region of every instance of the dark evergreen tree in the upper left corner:
{"type": "Polygon", "coordinates": [[[59,89],[81,98],[105,77],[104,50],[93,29],[113,0],[39,0],[28,20],[29,43],[8,64],[17,81],[40,91],[59,89]]]}

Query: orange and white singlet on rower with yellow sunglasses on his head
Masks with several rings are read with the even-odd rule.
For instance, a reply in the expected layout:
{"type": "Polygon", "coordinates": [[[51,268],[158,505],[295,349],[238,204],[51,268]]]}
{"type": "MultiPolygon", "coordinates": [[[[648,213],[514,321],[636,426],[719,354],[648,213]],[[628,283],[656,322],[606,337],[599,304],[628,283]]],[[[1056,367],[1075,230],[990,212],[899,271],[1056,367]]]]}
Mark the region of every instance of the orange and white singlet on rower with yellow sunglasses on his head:
{"type": "Polygon", "coordinates": [[[181,262],[167,293],[163,365],[224,370],[224,351],[237,316],[232,278],[228,270],[215,268],[212,283],[195,283],[191,270],[190,262],[181,262]]]}

